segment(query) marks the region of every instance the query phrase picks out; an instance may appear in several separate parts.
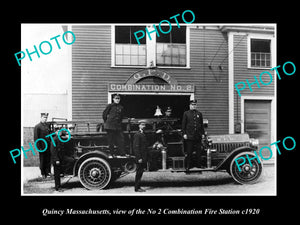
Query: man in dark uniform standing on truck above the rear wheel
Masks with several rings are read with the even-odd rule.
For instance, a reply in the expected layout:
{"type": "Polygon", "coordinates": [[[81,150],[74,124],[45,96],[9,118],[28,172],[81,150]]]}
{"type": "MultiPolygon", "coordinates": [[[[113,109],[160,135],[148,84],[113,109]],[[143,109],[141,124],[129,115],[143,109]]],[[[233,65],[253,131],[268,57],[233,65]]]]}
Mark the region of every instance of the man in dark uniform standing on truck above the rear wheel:
{"type": "Polygon", "coordinates": [[[124,108],[120,105],[120,95],[113,95],[113,103],[109,104],[103,111],[104,129],[107,132],[107,140],[110,152],[114,153],[114,145],[117,146],[118,155],[125,155],[124,135],[122,131],[122,119],[124,108]]]}

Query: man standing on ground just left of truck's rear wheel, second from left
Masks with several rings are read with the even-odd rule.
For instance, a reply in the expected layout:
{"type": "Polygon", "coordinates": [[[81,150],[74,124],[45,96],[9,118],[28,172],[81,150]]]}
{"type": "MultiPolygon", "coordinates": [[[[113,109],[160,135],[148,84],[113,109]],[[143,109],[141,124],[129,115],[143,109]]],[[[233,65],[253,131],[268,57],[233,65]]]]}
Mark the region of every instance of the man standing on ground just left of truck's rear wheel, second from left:
{"type": "MultiPolygon", "coordinates": [[[[55,190],[58,191],[61,187],[60,177],[66,174],[71,174],[73,165],[75,162],[74,158],[74,148],[73,148],[73,139],[70,139],[67,142],[61,142],[58,138],[59,129],[56,128],[56,136],[51,142],[51,162],[54,169],[54,183],[55,190]]],[[[67,140],[69,139],[68,133],[65,131],[60,132],[60,139],[67,140]]]]}

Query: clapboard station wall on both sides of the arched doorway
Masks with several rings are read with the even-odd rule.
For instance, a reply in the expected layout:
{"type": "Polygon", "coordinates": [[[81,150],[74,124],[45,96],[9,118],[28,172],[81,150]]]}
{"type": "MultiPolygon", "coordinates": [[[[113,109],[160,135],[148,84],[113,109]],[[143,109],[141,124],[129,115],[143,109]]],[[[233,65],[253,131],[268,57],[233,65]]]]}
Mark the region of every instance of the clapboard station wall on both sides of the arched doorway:
{"type": "MultiPolygon", "coordinates": [[[[108,83],[125,83],[141,68],[111,66],[111,26],[73,25],[73,120],[100,120],[108,103],[108,83]]],[[[199,110],[211,134],[228,133],[228,44],[216,27],[190,28],[190,68],[161,68],[178,84],[194,84],[199,110]]]]}

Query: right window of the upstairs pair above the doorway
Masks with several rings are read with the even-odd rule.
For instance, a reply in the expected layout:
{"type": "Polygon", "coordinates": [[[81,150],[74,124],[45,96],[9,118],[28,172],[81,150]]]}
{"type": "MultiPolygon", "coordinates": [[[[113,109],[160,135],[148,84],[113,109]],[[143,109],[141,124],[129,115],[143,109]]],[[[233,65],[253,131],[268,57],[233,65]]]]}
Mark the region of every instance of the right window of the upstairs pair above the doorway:
{"type": "MultiPolygon", "coordinates": [[[[163,31],[168,26],[161,27],[163,31]]],[[[186,66],[186,27],[172,26],[171,32],[156,37],[156,65],[157,66],[186,66]]]]}

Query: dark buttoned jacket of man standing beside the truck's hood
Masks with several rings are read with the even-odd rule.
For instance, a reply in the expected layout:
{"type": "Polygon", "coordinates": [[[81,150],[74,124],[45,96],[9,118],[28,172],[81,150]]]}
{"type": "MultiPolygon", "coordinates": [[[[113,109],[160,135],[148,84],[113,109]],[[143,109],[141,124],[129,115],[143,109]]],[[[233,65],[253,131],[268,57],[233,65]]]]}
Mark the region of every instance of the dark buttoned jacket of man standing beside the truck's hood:
{"type": "Polygon", "coordinates": [[[202,113],[198,110],[185,111],[182,118],[182,131],[187,139],[201,139],[204,134],[202,113]]]}

